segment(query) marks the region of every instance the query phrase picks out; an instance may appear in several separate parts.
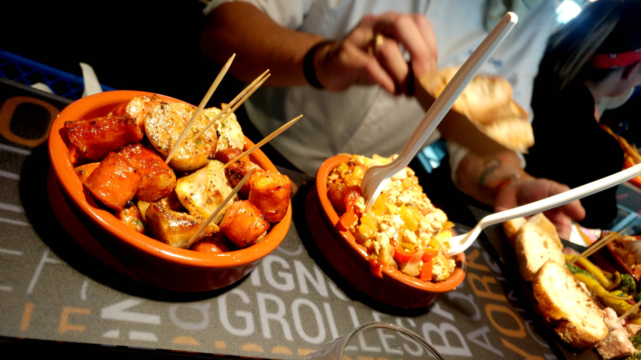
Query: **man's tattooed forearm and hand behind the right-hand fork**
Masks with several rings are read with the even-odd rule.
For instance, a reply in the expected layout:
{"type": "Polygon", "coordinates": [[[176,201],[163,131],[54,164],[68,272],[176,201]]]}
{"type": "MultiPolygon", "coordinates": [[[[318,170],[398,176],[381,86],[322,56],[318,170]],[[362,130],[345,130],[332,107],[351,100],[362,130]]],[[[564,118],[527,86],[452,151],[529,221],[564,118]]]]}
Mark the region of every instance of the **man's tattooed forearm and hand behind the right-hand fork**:
{"type": "MultiPolygon", "coordinates": [[[[512,209],[545,199],[570,188],[550,179],[530,176],[521,167],[515,152],[481,156],[467,152],[456,169],[458,188],[476,200],[494,208],[495,212],[512,209]]],[[[544,212],[561,238],[569,238],[572,221],[583,220],[585,209],[579,200],[544,212]]]]}

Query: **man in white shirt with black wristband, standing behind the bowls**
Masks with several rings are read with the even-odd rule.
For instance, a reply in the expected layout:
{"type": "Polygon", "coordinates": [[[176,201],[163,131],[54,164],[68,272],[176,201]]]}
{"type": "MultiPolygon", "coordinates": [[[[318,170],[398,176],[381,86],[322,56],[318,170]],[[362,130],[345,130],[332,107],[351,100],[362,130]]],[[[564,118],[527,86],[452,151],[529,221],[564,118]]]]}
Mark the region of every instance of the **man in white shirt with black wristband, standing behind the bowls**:
{"type": "MultiPolygon", "coordinates": [[[[519,23],[481,72],[508,79],[515,101],[529,110],[538,62],[556,24],[556,1],[528,1],[522,11],[504,3],[510,1],[213,0],[205,9],[201,49],[219,64],[237,53],[229,72],[241,81],[270,69],[264,87],[246,102],[247,115],[267,135],[303,113],[271,145],[313,175],[341,152],[400,152],[424,115],[413,97],[404,96],[413,94],[413,72],[461,65],[507,10],[517,11],[519,23]]],[[[449,151],[455,183],[488,204],[497,188],[512,191],[508,187],[520,183],[540,188],[540,197],[567,190],[547,179],[522,181],[524,164],[512,152],[497,156],[501,166],[493,167],[456,144],[449,151]],[[460,178],[479,181],[470,185],[460,178]]],[[[582,218],[582,211],[574,202],[552,220],[569,230],[570,218],[582,218]]]]}

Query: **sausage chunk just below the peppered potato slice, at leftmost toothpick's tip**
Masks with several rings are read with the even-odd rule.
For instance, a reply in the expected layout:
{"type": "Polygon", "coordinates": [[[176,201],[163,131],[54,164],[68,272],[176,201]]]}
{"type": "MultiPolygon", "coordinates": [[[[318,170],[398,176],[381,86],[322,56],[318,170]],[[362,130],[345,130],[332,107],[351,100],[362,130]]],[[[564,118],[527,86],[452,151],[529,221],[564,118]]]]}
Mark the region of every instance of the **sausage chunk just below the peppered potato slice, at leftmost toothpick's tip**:
{"type": "Polygon", "coordinates": [[[142,176],[142,183],[136,192],[136,199],[143,201],[156,201],[173,192],[176,188],[176,174],[165,164],[156,152],[135,143],[127,145],[118,152],[125,160],[129,161],[142,176]]]}

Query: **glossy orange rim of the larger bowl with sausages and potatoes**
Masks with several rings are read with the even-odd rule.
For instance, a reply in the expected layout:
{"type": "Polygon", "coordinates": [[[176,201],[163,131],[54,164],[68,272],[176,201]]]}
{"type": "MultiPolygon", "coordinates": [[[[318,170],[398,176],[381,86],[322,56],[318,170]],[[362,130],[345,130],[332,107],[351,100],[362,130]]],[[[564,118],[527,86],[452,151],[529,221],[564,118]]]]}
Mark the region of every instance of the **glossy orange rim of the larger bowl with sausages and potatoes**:
{"type": "MultiPolygon", "coordinates": [[[[58,178],[58,183],[63,189],[65,195],[94,223],[106,229],[110,234],[125,241],[132,247],[142,250],[147,254],[156,258],[170,261],[172,263],[179,263],[185,266],[196,266],[205,268],[229,268],[235,266],[242,266],[254,261],[258,261],[272,252],[285,238],[285,234],[290,226],[292,220],[292,204],[290,202],[285,214],[285,218],[273,225],[267,236],[262,241],[256,243],[245,249],[224,252],[221,254],[210,254],[206,252],[197,252],[193,250],[180,249],[172,247],[169,244],[162,243],[161,241],[154,240],[149,236],[138,233],[137,231],[127,227],[123,222],[118,220],[112,213],[105,209],[99,208],[88,202],[91,199],[90,195],[83,189],[83,185],[71,165],[69,158],[69,145],[65,141],[65,136],[62,135],[62,129],[65,121],[84,120],[89,117],[83,117],[92,110],[100,107],[110,106],[115,107],[117,104],[129,101],[132,97],[138,95],[151,96],[154,93],[141,92],[134,90],[113,90],[109,92],[102,92],[100,94],[90,95],[78,99],[66,108],[64,108],[58,118],[54,120],[51,131],[49,133],[49,159],[51,165],[58,178]]],[[[169,102],[185,102],[173,97],[158,95],[163,101],[169,102]]],[[[185,102],[187,103],[187,102],[185,102]]],[[[254,144],[245,138],[245,148],[253,146],[254,144]]],[[[271,161],[263,154],[260,149],[254,151],[250,156],[254,163],[257,163],[265,170],[278,172],[276,167],[271,161]]]]}

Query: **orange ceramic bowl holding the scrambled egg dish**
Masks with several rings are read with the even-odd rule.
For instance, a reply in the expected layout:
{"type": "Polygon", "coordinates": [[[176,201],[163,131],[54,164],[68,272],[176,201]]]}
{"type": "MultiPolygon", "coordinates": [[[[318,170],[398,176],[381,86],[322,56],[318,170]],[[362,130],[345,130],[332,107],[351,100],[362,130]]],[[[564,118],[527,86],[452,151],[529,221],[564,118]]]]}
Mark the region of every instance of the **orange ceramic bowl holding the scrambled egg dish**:
{"type": "Polygon", "coordinates": [[[370,273],[369,261],[365,259],[367,250],[356,243],[349,231],[339,231],[336,227],[338,214],[327,197],[329,173],[340,163],[347,163],[345,155],[333,156],[324,161],[316,174],[315,194],[308,197],[306,216],[312,229],[315,243],[325,258],[337,271],[356,288],[370,297],[395,307],[415,309],[426,307],[438,295],[453,290],[465,277],[465,256],[458,254],[456,269],[445,281],[420,281],[417,277],[403,274],[392,266],[383,267],[383,277],[370,273]],[[322,218],[320,222],[315,218],[322,218]],[[320,224],[324,222],[324,224],[320,224]],[[324,233],[322,233],[324,227],[324,233]]]}

